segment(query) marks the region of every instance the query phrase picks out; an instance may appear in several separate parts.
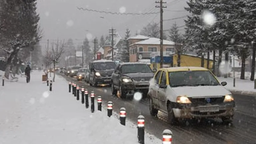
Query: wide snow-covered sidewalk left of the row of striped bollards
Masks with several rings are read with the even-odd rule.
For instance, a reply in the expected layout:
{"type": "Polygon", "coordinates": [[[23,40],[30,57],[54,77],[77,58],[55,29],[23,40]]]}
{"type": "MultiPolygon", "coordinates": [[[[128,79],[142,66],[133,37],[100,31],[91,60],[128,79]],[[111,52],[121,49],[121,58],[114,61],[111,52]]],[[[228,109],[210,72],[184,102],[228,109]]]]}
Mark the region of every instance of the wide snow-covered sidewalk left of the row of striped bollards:
{"type": "MultiPolygon", "coordinates": [[[[91,113],[68,93],[68,82],[56,75],[53,91],[41,81],[42,72],[0,87],[0,144],[136,144],[137,129],[119,124],[106,110],[91,113]]],[[[96,104],[96,103],[95,103],[96,104]]],[[[145,136],[146,144],[160,144],[145,136]]]]}

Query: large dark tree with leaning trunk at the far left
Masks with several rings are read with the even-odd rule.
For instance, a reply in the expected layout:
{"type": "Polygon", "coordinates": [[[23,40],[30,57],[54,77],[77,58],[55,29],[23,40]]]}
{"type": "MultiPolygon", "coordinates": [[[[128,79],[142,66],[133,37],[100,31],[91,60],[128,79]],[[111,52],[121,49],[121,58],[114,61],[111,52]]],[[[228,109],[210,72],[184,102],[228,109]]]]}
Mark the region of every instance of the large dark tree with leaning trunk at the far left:
{"type": "Polygon", "coordinates": [[[9,79],[9,71],[19,51],[31,48],[41,38],[36,0],[0,1],[0,19],[1,48],[8,54],[5,77],[9,79]]]}

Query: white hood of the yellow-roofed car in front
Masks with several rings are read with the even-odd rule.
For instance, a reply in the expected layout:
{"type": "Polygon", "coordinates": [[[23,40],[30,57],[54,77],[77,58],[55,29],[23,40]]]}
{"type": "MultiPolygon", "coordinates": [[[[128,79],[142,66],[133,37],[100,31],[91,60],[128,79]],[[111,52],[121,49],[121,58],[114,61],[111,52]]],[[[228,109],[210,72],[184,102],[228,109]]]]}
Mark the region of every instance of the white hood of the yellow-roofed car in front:
{"type": "Polygon", "coordinates": [[[172,90],[179,95],[187,95],[188,97],[204,97],[204,96],[224,96],[231,94],[223,86],[184,86],[174,87],[172,90]]]}

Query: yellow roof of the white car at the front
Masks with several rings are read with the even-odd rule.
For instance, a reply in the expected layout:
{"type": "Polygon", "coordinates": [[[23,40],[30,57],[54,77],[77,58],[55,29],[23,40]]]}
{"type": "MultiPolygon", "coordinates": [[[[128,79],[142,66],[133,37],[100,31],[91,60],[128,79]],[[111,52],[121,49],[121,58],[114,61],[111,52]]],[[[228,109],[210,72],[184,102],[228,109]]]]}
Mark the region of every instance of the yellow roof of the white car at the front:
{"type": "Polygon", "coordinates": [[[177,72],[177,71],[209,71],[203,67],[169,67],[169,68],[160,68],[159,70],[166,70],[168,72],[177,72]]]}

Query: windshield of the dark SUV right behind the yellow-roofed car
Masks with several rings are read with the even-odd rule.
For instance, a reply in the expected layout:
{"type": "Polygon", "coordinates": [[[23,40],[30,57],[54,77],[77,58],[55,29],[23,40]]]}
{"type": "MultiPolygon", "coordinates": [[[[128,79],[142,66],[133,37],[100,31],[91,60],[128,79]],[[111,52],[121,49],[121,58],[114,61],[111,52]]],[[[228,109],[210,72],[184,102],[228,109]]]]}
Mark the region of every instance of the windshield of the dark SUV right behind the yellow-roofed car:
{"type": "Polygon", "coordinates": [[[122,65],[121,71],[125,73],[152,73],[152,70],[147,64],[125,64],[122,65]]]}

